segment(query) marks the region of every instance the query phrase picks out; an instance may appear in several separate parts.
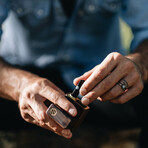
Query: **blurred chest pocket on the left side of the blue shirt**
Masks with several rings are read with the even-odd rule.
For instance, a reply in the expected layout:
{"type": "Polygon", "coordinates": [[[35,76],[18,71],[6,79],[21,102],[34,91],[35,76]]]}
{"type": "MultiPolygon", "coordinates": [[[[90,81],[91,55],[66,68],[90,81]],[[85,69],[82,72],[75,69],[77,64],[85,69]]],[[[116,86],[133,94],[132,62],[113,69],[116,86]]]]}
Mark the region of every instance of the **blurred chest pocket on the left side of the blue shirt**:
{"type": "Polygon", "coordinates": [[[11,0],[11,9],[19,18],[24,16],[45,19],[50,13],[49,0],[11,0]]]}

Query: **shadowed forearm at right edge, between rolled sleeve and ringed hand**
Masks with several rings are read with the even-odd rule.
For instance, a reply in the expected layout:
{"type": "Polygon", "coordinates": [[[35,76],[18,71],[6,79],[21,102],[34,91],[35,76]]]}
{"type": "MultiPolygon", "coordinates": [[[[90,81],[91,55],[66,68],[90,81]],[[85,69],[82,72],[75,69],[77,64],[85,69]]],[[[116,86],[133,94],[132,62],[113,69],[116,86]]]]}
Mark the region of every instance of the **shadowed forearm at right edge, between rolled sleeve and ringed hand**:
{"type": "Polygon", "coordinates": [[[148,39],[143,41],[134,53],[127,56],[139,68],[144,83],[148,82],[148,39]]]}

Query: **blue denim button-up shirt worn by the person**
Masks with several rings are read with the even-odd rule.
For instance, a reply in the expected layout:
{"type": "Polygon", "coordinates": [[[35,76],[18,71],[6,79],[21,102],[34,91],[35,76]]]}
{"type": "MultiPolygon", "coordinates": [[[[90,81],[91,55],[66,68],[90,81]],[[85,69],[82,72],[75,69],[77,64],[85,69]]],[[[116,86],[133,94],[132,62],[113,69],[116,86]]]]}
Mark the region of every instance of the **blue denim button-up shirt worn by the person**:
{"type": "Polygon", "coordinates": [[[109,53],[125,54],[119,17],[132,28],[134,50],[148,37],[147,0],[77,0],[70,19],[59,0],[0,0],[0,54],[11,64],[53,65],[72,86],[109,53]]]}

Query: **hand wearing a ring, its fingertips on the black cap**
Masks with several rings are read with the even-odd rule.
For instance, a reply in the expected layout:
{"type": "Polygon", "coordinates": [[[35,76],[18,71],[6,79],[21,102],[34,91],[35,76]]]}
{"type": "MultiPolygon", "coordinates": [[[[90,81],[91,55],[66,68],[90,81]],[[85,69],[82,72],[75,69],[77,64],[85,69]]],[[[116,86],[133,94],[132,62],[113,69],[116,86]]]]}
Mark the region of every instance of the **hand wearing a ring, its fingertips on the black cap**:
{"type": "Polygon", "coordinates": [[[139,67],[117,52],[110,53],[101,64],[76,78],[74,84],[80,80],[85,80],[80,89],[85,105],[95,99],[123,104],[139,95],[144,87],[139,67]],[[121,80],[128,83],[125,91],[119,85],[121,80]]]}

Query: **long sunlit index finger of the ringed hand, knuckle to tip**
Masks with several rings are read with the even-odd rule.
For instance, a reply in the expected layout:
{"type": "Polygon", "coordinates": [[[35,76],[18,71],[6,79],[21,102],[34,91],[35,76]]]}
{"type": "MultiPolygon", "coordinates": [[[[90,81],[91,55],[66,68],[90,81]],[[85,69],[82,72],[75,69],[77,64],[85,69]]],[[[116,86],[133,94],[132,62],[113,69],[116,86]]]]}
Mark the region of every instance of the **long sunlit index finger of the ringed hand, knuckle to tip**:
{"type": "Polygon", "coordinates": [[[97,66],[90,77],[83,83],[80,94],[82,96],[86,95],[90,90],[92,90],[98,83],[100,83],[117,65],[117,62],[113,60],[110,55],[105,58],[105,60],[97,66]]]}

